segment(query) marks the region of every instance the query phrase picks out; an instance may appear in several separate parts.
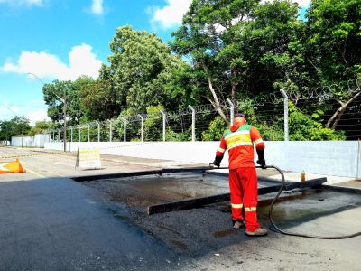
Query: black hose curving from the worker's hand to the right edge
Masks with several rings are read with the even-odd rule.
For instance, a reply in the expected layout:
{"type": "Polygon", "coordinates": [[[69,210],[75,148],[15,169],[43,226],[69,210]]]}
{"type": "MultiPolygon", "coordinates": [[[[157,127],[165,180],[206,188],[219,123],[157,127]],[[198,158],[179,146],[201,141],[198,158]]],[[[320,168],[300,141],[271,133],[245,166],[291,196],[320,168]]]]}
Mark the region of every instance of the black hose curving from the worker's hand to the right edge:
{"type": "MultiPolygon", "coordinates": [[[[260,166],[257,166],[257,168],[260,168],[260,166]]],[[[290,235],[290,236],[298,236],[298,237],[302,237],[302,238],[315,238],[315,239],[347,239],[347,238],[354,238],[356,236],[360,236],[361,235],[361,231],[360,232],[356,232],[354,234],[349,234],[349,235],[343,235],[343,236],[332,236],[332,237],[328,237],[328,236],[318,236],[318,235],[306,235],[306,234],[301,234],[301,233],[293,233],[293,232],[288,232],[288,231],[284,231],[280,228],[278,228],[275,223],[273,222],[273,218],[272,218],[272,210],[273,210],[273,205],[274,203],[278,200],[278,198],[280,197],[282,190],[284,188],[285,185],[285,180],[284,180],[284,175],[282,173],[282,170],[279,169],[277,166],[274,165],[267,165],[265,166],[265,168],[274,168],[275,170],[277,170],[281,176],[282,176],[282,185],[280,190],[277,192],[276,196],[274,197],[271,205],[270,205],[270,209],[268,211],[268,218],[271,221],[271,224],[273,226],[273,228],[275,229],[274,231],[285,234],[285,235],[290,235]]],[[[271,228],[270,228],[271,229],[271,228]]]]}

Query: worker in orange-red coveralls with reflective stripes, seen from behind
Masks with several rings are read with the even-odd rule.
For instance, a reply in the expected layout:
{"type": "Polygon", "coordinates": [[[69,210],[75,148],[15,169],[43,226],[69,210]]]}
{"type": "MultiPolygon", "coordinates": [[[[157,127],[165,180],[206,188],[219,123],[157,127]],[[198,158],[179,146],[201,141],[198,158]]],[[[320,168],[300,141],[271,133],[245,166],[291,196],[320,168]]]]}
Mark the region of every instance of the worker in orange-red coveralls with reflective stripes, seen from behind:
{"type": "Polygon", "coordinates": [[[227,129],[220,140],[213,164],[219,167],[228,150],[233,229],[245,226],[246,235],[264,236],[267,235],[267,229],[260,228],[256,213],[258,187],[254,145],[258,154],[257,163],[265,168],[264,141],[261,135],[254,126],[246,124],[244,114],[237,113],[234,125],[227,129]]]}

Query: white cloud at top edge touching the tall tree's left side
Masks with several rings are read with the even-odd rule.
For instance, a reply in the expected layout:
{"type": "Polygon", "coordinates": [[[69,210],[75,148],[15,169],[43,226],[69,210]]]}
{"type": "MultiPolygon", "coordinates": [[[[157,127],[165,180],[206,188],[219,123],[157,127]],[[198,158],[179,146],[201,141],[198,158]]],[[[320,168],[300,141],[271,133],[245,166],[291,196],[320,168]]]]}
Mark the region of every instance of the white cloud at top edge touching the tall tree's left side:
{"type": "Polygon", "coordinates": [[[149,9],[152,13],[152,23],[160,24],[162,28],[168,29],[181,24],[183,15],[190,8],[192,0],[166,0],[168,5],[164,7],[155,6],[149,9]]]}

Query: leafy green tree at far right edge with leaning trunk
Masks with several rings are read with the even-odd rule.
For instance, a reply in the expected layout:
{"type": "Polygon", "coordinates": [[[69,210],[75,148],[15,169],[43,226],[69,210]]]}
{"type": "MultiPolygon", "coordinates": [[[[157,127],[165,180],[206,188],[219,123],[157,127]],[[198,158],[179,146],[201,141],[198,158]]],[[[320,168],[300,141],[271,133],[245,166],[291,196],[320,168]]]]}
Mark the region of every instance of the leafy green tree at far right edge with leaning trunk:
{"type": "Polygon", "coordinates": [[[307,14],[313,51],[310,61],[336,100],[326,125],[333,129],[347,107],[361,97],[361,89],[355,84],[361,77],[360,11],[360,0],[314,0],[307,14]]]}

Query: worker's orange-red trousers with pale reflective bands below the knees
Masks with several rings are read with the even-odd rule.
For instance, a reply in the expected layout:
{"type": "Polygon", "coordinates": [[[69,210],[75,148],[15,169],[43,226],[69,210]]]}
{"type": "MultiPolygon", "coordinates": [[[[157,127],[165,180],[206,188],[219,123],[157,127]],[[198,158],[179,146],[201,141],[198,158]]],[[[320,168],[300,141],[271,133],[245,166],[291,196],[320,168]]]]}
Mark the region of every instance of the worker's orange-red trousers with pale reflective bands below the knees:
{"type": "Polygon", "coordinates": [[[245,220],[245,230],[259,229],[257,221],[258,187],[255,167],[229,170],[232,220],[245,220]],[[242,211],[245,210],[245,217],[242,211]]]}

